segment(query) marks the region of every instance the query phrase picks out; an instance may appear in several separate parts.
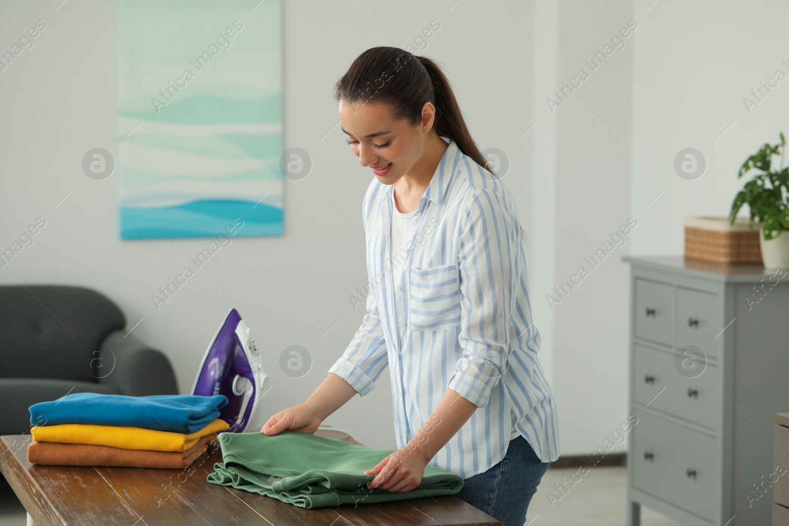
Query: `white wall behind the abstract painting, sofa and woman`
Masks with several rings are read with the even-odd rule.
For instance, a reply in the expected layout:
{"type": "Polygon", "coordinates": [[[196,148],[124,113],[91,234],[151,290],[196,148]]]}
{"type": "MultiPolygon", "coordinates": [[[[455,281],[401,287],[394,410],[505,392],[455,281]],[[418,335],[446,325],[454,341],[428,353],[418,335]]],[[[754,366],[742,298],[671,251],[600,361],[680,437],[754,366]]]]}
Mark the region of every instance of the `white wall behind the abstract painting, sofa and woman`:
{"type": "MultiPolygon", "coordinates": [[[[35,244],[0,270],[0,282],[88,285],[105,293],[129,328],[143,320],[133,334],[170,357],[181,393],[190,392],[206,345],[231,307],[240,309],[268,356],[272,414],[315,390],[361,323],[364,306],[354,311],[348,297],[366,280],[361,200],[373,176],[345,144],[331,88],[368,47],[406,47],[439,21],[424,54],[445,66],[480,147],[507,152],[505,181],[521,208],[528,205],[516,191],[529,192],[529,144],[518,141],[532,121],[528,4],[449,0],[426,8],[412,0],[383,12],[372,2],[309,2],[309,9],[284,2],[285,147],[308,151],[312,173],[286,181],[284,236],[234,238],[156,311],[151,295],[209,240],[120,241],[117,177],[93,181],[80,168],[90,148],[117,154],[114,3],[61,2],[0,7],[2,50],[37,20],[47,23],[35,47],[0,73],[0,246],[37,217],[47,220],[35,244]],[[294,344],[313,359],[299,379],[279,369],[279,353],[294,344]]],[[[255,14],[244,16],[245,28],[254,30],[255,14]]],[[[326,423],[368,446],[394,449],[390,386],[382,375],[376,390],[354,397],[326,423]]]]}

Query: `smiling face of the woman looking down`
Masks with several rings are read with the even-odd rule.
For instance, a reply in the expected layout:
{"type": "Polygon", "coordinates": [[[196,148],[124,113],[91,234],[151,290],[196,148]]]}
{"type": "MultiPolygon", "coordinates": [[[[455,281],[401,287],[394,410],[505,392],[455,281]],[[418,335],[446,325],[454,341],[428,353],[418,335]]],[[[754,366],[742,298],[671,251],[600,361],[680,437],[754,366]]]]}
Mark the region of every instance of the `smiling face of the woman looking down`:
{"type": "Polygon", "coordinates": [[[406,119],[393,120],[387,104],[339,103],[342,132],[348,135],[351,151],[384,185],[393,185],[421,159],[433,123],[433,106],[425,105],[429,107],[420,125],[411,126],[406,119]]]}

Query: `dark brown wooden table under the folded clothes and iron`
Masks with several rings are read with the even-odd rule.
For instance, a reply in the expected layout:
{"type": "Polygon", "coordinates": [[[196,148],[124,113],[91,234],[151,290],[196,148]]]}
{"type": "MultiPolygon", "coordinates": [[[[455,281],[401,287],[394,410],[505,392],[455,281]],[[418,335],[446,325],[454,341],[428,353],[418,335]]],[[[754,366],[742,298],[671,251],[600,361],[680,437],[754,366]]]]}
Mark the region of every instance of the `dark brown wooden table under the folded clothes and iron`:
{"type": "MultiPolygon", "coordinates": [[[[328,432],[326,435],[335,438],[328,432]]],[[[211,484],[206,477],[214,471],[215,462],[222,461],[219,449],[205,453],[183,470],[49,466],[28,462],[31,441],[30,435],[0,436],[0,472],[36,526],[501,526],[495,518],[454,495],[305,509],[265,495],[211,484]]]]}

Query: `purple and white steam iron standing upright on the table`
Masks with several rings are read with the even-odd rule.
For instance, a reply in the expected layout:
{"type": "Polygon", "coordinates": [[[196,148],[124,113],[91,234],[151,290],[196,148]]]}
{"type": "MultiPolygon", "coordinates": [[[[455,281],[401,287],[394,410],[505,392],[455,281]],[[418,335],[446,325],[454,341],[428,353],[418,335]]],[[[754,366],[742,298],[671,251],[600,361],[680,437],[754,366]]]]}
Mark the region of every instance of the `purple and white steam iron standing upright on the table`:
{"type": "Polygon", "coordinates": [[[263,359],[252,340],[252,330],[236,309],[230,309],[203,356],[192,394],[227,397],[228,403],[221,409],[219,418],[230,427],[222,432],[256,432],[267,420],[263,409],[267,379],[263,359]]]}

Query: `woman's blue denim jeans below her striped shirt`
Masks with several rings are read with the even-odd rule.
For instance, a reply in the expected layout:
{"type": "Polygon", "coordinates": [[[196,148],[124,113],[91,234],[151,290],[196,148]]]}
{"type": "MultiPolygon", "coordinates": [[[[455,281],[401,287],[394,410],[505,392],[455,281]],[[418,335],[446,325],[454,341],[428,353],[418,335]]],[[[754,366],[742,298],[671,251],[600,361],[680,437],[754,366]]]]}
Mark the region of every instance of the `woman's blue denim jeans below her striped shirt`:
{"type": "Polygon", "coordinates": [[[501,520],[503,526],[523,526],[529,502],[550,464],[541,462],[529,442],[518,435],[510,440],[498,464],[464,479],[454,496],[501,520]]]}

